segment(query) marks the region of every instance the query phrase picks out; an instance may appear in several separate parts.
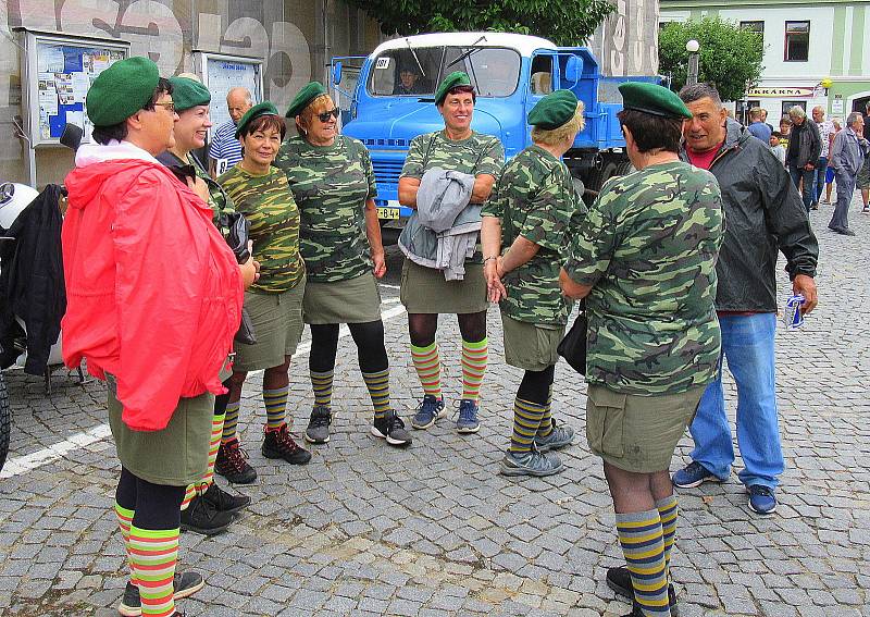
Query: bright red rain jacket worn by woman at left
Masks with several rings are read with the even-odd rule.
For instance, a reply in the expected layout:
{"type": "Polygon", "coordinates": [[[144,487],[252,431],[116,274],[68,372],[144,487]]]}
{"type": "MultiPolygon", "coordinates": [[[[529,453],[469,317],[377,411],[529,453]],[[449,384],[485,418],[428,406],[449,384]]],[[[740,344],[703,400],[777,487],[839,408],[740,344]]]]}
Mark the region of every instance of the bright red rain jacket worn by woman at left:
{"type": "Polygon", "coordinates": [[[66,176],[63,360],[117,380],[122,419],[166,427],[181,397],[222,394],[241,316],[236,259],[211,209],[163,165],[108,160],[66,176]]]}

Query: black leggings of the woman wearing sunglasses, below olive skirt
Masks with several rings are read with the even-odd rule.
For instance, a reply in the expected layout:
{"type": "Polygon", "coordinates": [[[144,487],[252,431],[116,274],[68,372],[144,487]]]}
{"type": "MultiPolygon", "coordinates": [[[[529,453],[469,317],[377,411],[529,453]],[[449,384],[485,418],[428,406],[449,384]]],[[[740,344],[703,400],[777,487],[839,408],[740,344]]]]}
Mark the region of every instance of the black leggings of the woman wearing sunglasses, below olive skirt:
{"type": "MultiPolygon", "coordinates": [[[[389,367],[387,349],[384,346],[384,322],[348,323],[350,335],[357,344],[357,360],[364,373],[376,373],[389,367]]],[[[335,368],[338,350],[338,324],[324,323],[311,325],[311,353],[308,368],[315,373],[325,373],[335,368]]]]}

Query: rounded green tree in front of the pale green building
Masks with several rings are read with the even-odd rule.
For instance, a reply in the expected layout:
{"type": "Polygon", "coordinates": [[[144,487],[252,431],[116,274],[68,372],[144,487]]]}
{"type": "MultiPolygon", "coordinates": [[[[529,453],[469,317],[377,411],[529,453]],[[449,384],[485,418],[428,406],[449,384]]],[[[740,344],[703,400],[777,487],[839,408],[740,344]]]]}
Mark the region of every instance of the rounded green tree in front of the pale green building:
{"type": "Polygon", "coordinates": [[[720,17],[671,22],[659,29],[659,73],[671,76],[679,90],[688,76],[686,42],[700,44],[698,81],[716,85],[722,100],[739,100],[758,83],[765,44],[760,33],[741,28],[720,17]]]}

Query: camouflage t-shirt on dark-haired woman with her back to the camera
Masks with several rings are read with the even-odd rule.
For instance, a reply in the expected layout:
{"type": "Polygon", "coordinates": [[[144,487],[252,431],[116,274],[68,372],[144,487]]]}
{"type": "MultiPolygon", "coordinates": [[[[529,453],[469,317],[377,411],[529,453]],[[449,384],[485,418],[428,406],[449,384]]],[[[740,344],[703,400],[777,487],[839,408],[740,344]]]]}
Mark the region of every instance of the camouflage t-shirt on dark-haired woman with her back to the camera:
{"type": "Polygon", "coordinates": [[[707,171],[669,162],[605,184],[564,266],[593,286],[587,382],[649,396],[713,379],[723,232],[719,184],[707,171]]]}

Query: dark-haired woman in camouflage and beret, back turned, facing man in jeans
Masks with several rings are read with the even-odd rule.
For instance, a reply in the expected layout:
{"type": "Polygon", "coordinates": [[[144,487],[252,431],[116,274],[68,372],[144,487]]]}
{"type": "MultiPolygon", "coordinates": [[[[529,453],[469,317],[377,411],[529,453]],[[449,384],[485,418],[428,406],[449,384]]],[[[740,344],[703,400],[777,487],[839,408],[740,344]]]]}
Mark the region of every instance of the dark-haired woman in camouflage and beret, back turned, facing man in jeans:
{"type": "MultiPolygon", "coordinates": [[[[678,157],[686,106],[655,84],[619,89],[625,151],[638,171],[601,188],[561,281],[567,296],[586,297],[586,439],[604,459],[627,564],[607,582],[633,601],[626,617],[663,616],[676,613],[678,503],[668,468],[719,362],[723,220],[716,178],[678,157]]],[[[724,118],[722,110],[717,120],[724,118]]]]}

